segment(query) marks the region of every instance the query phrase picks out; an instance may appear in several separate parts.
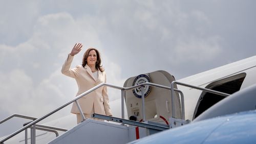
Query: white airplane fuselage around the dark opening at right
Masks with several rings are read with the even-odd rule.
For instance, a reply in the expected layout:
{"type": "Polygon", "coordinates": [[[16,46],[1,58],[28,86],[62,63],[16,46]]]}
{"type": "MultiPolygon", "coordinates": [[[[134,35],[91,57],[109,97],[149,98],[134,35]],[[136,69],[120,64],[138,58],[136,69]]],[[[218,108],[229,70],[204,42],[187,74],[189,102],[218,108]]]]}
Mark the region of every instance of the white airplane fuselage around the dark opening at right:
{"type": "MultiPolygon", "coordinates": [[[[203,73],[186,77],[177,81],[204,88],[212,82],[240,73],[246,73],[246,77],[242,83],[241,89],[248,87],[256,82],[256,56],[207,70],[203,73]]],[[[192,120],[197,102],[202,91],[181,85],[177,85],[177,87],[184,93],[185,119],[192,120]]]]}

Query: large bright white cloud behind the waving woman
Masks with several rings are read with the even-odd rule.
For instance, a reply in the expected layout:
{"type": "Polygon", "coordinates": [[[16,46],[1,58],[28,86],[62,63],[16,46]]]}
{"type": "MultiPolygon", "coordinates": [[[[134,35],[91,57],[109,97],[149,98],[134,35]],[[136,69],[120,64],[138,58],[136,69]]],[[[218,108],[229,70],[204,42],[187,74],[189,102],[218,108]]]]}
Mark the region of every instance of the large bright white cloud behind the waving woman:
{"type": "MultiPolygon", "coordinates": [[[[1,105],[1,109],[9,107],[10,103],[15,105],[5,113],[37,117],[75,97],[75,80],[63,76],[60,68],[75,42],[84,42],[83,49],[89,45],[101,47],[98,33],[92,23],[86,21],[90,18],[93,20],[90,16],[74,19],[65,12],[42,15],[36,20],[27,41],[15,46],[0,45],[1,69],[5,69],[0,71],[1,91],[5,95],[1,101],[7,102],[1,105]]],[[[74,58],[73,67],[81,63],[82,53],[74,58]]],[[[122,84],[120,67],[115,62],[105,63],[110,69],[108,81],[122,84]],[[112,70],[115,73],[111,73],[112,70]]],[[[118,97],[111,90],[110,95],[113,95],[111,100],[118,97]]],[[[69,108],[58,115],[70,113],[69,108]]]]}

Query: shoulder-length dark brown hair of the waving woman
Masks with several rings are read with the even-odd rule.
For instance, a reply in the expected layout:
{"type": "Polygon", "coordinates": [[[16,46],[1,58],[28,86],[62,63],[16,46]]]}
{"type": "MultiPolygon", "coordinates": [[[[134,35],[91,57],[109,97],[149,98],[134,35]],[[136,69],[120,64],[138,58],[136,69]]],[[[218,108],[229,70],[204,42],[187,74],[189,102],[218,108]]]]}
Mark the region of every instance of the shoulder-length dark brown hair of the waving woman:
{"type": "Polygon", "coordinates": [[[104,71],[104,68],[102,68],[102,65],[101,64],[101,58],[100,58],[100,54],[99,54],[99,51],[95,48],[89,48],[84,54],[83,54],[83,58],[82,58],[82,66],[86,66],[87,64],[87,58],[89,57],[89,53],[90,51],[94,50],[97,54],[97,61],[96,61],[96,69],[100,70],[101,72],[104,71]]]}

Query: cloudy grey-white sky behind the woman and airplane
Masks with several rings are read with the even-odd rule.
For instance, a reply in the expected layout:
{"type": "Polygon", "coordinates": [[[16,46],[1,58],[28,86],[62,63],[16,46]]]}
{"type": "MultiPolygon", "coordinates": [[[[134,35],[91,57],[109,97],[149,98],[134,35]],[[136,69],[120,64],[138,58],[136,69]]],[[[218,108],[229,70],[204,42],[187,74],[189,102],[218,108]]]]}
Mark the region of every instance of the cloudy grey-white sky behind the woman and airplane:
{"type": "MultiPolygon", "coordinates": [[[[60,69],[78,42],[83,49],[72,67],[95,47],[107,82],[118,86],[156,70],[178,80],[254,56],[255,5],[254,0],[0,0],[0,119],[13,113],[39,117],[73,99],[76,82],[60,69]]],[[[109,89],[110,100],[119,93],[109,89]]],[[[4,134],[0,130],[0,137],[4,134]]]]}

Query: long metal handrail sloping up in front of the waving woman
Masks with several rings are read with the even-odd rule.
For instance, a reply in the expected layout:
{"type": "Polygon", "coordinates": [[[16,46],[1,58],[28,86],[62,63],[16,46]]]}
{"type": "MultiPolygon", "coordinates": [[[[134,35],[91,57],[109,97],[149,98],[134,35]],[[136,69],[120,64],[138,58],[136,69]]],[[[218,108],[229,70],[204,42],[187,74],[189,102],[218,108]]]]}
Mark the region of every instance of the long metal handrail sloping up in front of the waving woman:
{"type": "MultiPolygon", "coordinates": [[[[97,86],[95,86],[95,87],[93,87],[93,88],[91,88],[91,89],[89,89],[89,90],[87,90],[87,91],[81,93],[80,95],[78,95],[77,97],[75,97],[73,100],[71,100],[71,101],[69,101],[69,102],[67,102],[67,103],[65,103],[65,104],[63,104],[63,105],[57,107],[56,109],[54,109],[54,110],[48,112],[48,113],[45,114],[45,115],[42,115],[41,117],[35,119],[33,122],[29,123],[27,126],[24,126],[23,128],[20,128],[19,130],[17,130],[17,131],[15,131],[15,132],[13,132],[12,134],[8,135],[7,137],[1,139],[1,140],[0,140],[0,143],[3,143],[4,141],[6,141],[6,140],[10,139],[11,137],[15,136],[16,134],[18,134],[18,133],[24,131],[25,129],[31,127],[32,125],[34,125],[34,124],[36,124],[36,123],[42,121],[42,119],[45,119],[46,117],[52,115],[53,113],[59,111],[59,110],[62,109],[62,108],[68,106],[69,104],[71,104],[71,103],[77,101],[78,99],[82,98],[84,95],[87,95],[87,94],[91,93],[92,91],[94,91],[95,89],[98,89],[98,88],[101,87],[101,86],[108,86],[108,87],[112,87],[112,88],[116,88],[116,89],[122,90],[122,99],[123,99],[123,98],[124,98],[124,97],[123,97],[123,93],[124,93],[123,90],[134,89],[134,88],[140,87],[140,86],[142,86],[142,85],[151,85],[151,86],[157,86],[157,87],[160,87],[160,88],[170,89],[170,88],[167,87],[167,86],[162,86],[162,85],[154,84],[154,83],[141,83],[141,84],[134,85],[134,86],[131,86],[131,87],[120,87],[120,86],[115,86],[115,85],[108,84],[108,83],[100,83],[99,85],[97,85],[97,86]]],[[[179,91],[178,89],[174,89],[174,90],[175,90],[175,91],[179,91]]],[[[122,118],[124,118],[124,104],[123,104],[123,102],[124,102],[124,101],[122,100],[122,118]]]]}

